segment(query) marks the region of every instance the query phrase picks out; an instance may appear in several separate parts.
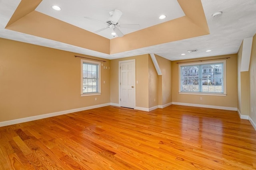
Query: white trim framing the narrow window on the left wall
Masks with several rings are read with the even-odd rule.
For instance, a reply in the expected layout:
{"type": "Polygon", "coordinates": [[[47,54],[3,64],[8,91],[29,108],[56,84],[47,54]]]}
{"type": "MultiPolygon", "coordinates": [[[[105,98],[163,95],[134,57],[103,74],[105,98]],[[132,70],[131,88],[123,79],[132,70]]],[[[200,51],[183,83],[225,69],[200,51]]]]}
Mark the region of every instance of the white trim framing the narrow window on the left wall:
{"type": "Polygon", "coordinates": [[[80,89],[81,96],[95,96],[95,95],[100,95],[101,94],[100,68],[101,68],[101,63],[100,62],[81,59],[81,68],[80,68],[80,70],[81,70],[81,82],[80,82],[80,84],[81,84],[81,89],[80,89]],[[98,64],[98,73],[99,73],[99,75],[98,75],[99,76],[98,77],[98,93],[86,93],[86,94],[83,93],[83,63],[98,64]]]}

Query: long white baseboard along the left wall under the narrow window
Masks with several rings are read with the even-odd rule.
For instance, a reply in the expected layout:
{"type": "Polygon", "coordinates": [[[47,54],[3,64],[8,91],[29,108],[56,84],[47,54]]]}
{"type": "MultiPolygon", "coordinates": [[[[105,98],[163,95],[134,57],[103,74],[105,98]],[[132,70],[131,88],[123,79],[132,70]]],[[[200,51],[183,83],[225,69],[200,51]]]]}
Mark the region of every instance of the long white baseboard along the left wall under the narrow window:
{"type": "Polygon", "coordinates": [[[98,107],[104,107],[104,106],[109,106],[109,105],[110,105],[110,103],[99,104],[99,105],[95,105],[95,106],[82,107],[82,108],[78,108],[78,109],[70,109],[70,110],[58,111],[58,112],[48,113],[48,114],[44,114],[44,115],[24,117],[24,118],[14,119],[14,120],[10,120],[10,121],[2,121],[2,122],[0,122],[0,127],[8,126],[8,125],[14,125],[14,124],[17,124],[17,123],[24,123],[24,122],[27,122],[27,121],[44,119],[44,118],[47,118],[47,117],[64,115],[64,114],[68,114],[68,113],[74,113],[74,112],[77,112],[77,111],[95,109],[95,108],[98,108],[98,107]]]}

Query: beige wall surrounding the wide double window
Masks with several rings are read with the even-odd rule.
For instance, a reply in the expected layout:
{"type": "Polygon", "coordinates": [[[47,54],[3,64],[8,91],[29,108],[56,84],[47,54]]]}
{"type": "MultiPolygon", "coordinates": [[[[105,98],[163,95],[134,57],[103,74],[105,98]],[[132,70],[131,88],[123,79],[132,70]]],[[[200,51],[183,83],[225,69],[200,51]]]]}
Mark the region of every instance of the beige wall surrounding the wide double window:
{"type": "Polygon", "coordinates": [[[172,61],[172,102],[237,108],[237,54],[172,61]],[[226,96],[179,94],[179,70],[176,63],[226,57],[230,57],[226,60],[226,96]],[[200,100],[200,97],[202,97],[202,100],[200,100]]]}

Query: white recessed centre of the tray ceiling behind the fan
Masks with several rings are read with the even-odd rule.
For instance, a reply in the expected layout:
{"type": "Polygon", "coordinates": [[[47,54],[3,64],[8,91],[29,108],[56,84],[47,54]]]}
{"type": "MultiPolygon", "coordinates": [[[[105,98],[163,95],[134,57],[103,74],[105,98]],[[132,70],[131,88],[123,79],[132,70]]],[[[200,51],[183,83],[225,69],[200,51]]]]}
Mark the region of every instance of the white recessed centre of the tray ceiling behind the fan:
{"type": "MultiPolygon", "coordinates": [[[[104,22],[110,18],[110,11],[120,10],[123,14],[118,21],[120,24],[140,24],[140,29],[157,25],[185,16],[177,0],[43,0],[36,11],[70,23],[87,31],[94,32],[106,27],[104,22]],[[52,10],[52,5],[58,5],[61,11],[52,10]],[[172,10],[170,10],[172,9],[172,10]],[[160,15],[168,16],[164,20],[159,20],[160,15]],[[103,21],[103,23],[88,20],[84,16],[103,21]]],[[[139,29],[120,28],[122,33],[128,34],[139,29]]],[[[108,39],[114,38],[109,28],[97,33],[108,39]]]]}

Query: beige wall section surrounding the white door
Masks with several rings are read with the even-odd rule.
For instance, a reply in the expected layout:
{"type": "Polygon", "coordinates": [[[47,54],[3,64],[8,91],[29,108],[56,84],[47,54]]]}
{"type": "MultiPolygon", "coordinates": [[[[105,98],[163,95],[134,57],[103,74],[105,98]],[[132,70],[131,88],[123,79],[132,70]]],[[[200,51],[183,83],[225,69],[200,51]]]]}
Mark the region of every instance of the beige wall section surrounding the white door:
{"type": "Polygon", "coordinates": [[[138,55],[110,61],[110,102],[119,103],[118,92],[118,62],[135,59],[136,61],[136,107],[149,108],[148,103],[148,59],[149,55],[138,55]]]}

